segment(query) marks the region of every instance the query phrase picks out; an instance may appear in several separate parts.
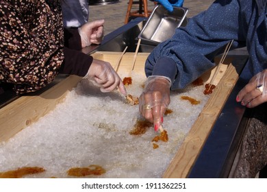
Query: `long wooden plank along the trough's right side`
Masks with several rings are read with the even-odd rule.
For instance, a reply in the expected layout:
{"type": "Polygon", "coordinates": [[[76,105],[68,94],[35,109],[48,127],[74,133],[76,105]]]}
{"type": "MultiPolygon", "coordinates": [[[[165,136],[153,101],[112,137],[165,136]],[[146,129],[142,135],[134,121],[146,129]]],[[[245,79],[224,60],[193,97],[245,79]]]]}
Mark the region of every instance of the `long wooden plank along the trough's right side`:
{"type": "Polygon", "coordinates": [[[188,176],[237,80],[236,68],[229,64],[223,79],[220,80],[198,119],[192,125],[185,141],[183,141],[166,169],[163,178],[186,178],[188,176]]]}

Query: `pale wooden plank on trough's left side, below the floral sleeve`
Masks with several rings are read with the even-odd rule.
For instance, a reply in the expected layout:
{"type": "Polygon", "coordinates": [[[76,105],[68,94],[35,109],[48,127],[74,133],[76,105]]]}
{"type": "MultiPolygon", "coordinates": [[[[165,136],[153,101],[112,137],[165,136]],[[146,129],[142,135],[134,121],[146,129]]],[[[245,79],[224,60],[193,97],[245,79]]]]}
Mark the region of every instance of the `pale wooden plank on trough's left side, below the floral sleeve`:
{"type": "Polygon", "coordinates": [[[81,77],[71,75],[40,95],[22,96],[0,108],[0,142],[7,141],[53,110],[79,80],[81,77]]]}

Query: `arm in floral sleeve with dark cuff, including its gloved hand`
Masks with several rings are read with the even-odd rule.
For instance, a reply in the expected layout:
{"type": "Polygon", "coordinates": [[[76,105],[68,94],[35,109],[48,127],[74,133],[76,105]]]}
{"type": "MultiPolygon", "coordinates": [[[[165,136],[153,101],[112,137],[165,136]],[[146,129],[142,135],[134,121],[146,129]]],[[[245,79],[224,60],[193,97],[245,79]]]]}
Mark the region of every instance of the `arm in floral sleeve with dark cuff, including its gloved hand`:
{"type": "MultiPolygon", "coordinates": [[[[35,7],[41,3],[30,5],[41,12],[40,16],[49,17],[49,9],[45,10],[47,6],[35,7]]],[[[64,48],[60,19],[49,17],[42,20],[36,14],[23,18],[23,8],[22,11],[16,10],[12,4],[3,1],[0,10],[0,32],[3,34],[0,36],[0,80],[14,84],[16,93],[38,91],[52,82],[59,72],[86,75],[95,80],[105,92],[118,86],[121,93],[126,93],[120,77],[110,63],[93,60],[84,53],[64,48]],[[32,21],[35,25],[31,25],[32,21]]],[[[61,18],[59,12],[57,16],[61,18]]]]}

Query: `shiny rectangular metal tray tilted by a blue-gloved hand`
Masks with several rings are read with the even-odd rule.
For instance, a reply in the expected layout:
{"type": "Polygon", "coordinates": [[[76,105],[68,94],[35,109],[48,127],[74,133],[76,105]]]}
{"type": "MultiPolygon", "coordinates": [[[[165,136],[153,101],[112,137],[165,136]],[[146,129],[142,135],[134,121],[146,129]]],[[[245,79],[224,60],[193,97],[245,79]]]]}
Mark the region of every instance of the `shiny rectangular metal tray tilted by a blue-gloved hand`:
{"type": "Polygon", "coordinates": [[[188,8],[174,7],[173,12],[168,12],[162,5],[157,5],[144,25],[138,38],[143,44],[157,45],[171,38],[175,29],[185,26],[188,8]]]}

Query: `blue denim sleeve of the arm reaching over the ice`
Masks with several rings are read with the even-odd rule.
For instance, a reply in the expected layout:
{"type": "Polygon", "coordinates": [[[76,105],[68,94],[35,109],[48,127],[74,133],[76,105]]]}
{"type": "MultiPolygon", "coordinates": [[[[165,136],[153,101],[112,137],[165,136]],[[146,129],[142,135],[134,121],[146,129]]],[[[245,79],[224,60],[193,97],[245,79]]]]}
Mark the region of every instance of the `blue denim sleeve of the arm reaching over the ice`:
{"type": "Polygon", "coordinates": [[[234,40],[232,48],[246,45],[246,32],[240,27],[243,21],[239,14],[238,0],[214,1],[209,9],[192,17],[186,27],[176,29],[172,38],[153,49],[145,64],[147,76],[162,75],[163,70],[175,71],[175,75],[165,74],[172,80],[171,89],[185,88],[214,67],[214,56],[223,51],[229,41],[234,40]]]}

